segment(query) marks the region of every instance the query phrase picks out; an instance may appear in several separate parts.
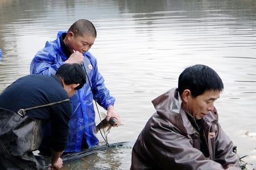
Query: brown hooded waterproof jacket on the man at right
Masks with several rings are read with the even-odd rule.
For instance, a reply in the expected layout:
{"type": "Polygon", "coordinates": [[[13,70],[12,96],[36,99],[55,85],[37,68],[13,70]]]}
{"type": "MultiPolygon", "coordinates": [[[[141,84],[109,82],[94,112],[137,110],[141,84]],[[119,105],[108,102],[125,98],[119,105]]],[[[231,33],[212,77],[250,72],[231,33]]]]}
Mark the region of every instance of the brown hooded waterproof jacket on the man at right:
{"type": "Polygon", "coordinates": [[[152,101],[156,113],[133,147],[131,169],[240,169],[233,143],[218,124],[216,109],[203,118],[209,159],[200,151],[200,134],[181,107],[177,89],[152,101]],[[210,137],[211,133],[212,137],[210,137]]]}

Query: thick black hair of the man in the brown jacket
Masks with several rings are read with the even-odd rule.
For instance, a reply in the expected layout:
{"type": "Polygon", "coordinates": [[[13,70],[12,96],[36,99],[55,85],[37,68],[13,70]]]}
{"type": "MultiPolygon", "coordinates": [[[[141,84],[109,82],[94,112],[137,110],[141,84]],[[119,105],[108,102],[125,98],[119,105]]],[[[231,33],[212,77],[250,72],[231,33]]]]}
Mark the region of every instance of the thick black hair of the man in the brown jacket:
{"type": "Polygon", "coordinates": [[[181,95],[185,89],[191,91],[193,97],[205,91],[222,91],[224,85],[220,76],[210,67],[194,65],[187,67],[179,76],[178,91],[181,95]]]}

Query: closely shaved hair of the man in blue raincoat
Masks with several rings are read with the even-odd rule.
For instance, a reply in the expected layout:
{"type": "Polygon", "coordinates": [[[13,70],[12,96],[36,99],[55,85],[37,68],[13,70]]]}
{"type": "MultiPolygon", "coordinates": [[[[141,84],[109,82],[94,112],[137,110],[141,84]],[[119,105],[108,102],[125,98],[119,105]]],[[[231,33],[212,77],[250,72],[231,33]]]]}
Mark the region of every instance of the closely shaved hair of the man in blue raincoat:
{"type": "Polygon", "coordinates": [[[68,29],[68,32],[73,32],[75,36],[84,36],[84,34],[97,37],[96,28],[93,23],[87,19],[77,20],[68,29]]]}

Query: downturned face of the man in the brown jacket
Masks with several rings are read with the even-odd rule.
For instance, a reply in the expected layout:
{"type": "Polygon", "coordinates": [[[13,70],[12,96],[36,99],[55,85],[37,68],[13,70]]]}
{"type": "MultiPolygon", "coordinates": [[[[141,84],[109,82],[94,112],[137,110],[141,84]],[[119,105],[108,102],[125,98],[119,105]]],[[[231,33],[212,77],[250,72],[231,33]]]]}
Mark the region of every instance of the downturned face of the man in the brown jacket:
{"type": "Polygon", "coordinates": [[[209,114],[214,109],[214,101],[220,97],[220,91],[205,91],[197,97],[188,97],[186,108],[196,120],[209,114]]]}

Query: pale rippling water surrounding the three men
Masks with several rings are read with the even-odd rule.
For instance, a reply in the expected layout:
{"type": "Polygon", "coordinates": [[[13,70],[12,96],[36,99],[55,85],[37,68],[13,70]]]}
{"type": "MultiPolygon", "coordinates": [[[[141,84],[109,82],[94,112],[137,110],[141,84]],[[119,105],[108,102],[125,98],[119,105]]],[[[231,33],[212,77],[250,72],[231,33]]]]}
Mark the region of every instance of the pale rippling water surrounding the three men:
{"type": "MultiPolygon", "coordinates": [[[[151,100],[177,86],[185,67],[201,63],[224,81],[216,104],[222,128],[256,165],[256,135],[245,135],[256,131],[256,1],[1,0],[0,91],[29,74],[46,40],[81,18],[96,25],[90,52],[125,125],[110,132],[109,142],[135,141],[154,113],[151,100]]],[[[130,147],[117,148],[63,169],[129,169],[130,160],[130,147]]]]}

